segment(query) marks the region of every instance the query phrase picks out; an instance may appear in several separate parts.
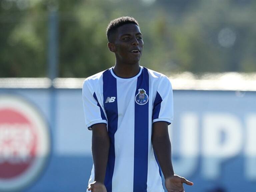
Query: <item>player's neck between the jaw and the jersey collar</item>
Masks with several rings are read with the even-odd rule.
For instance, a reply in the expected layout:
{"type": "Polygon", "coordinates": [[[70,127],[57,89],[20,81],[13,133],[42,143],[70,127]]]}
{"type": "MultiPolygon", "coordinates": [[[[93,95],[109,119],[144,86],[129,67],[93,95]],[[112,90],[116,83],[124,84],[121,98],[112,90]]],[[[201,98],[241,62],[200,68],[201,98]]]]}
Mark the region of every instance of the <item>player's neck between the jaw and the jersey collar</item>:
{"type": "Polygon", "coordinates": [[[139,62],[133,65],[116,63],[113,70],[118,77],[130,78],[139,73],[140,65],[139,62]]]}

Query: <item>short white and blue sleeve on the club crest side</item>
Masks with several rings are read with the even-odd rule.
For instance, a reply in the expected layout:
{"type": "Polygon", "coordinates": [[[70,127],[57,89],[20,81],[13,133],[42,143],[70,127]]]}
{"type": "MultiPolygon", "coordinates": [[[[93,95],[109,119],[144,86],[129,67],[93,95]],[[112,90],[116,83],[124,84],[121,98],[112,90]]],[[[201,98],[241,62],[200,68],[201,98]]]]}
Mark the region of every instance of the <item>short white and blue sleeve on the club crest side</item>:
{"type": "Polygon", "coordinates": [[[163,76],[157,88],[153,103],[152,123],[165,121],[171,124],[173,121],[173,92],[168,77],[163,76]]]}

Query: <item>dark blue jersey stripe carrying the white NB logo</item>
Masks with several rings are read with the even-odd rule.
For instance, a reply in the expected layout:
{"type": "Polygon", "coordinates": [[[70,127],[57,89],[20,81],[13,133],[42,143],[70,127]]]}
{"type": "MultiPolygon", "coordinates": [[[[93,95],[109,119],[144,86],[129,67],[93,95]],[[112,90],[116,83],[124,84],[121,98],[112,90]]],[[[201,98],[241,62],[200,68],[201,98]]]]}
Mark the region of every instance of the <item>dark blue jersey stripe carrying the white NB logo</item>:
{"type": "Polygon", "coordinates": [[[112,191],[112,178],[115,166],[115,132],[117,130],[118,122],[118,111],[117,111],[117,87],[116,78],[114,78],[110,70],[106,70],[103,73],[103,101],[106,101],[107,97],[116,97],[115,101],[112,103],[104,102],[104,109],[107,114],[108,119],[108,135],[110,139],[109,154],[108,154],[108,164],[106,169],[104,184],[108,192],[112,191]]]}

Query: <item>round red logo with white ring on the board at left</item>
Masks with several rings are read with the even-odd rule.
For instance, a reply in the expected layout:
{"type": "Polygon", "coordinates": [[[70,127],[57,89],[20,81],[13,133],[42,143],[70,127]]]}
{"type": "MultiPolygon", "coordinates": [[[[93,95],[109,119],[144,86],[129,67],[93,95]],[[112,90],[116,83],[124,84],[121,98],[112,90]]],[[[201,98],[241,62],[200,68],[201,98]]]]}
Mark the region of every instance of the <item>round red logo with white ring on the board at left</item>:
{"type": "Polygon", "coordinates": [[[49,154],[48,126],[23,99],[0,96],[0,190],[18,190],[38,176],[49,154]]]}

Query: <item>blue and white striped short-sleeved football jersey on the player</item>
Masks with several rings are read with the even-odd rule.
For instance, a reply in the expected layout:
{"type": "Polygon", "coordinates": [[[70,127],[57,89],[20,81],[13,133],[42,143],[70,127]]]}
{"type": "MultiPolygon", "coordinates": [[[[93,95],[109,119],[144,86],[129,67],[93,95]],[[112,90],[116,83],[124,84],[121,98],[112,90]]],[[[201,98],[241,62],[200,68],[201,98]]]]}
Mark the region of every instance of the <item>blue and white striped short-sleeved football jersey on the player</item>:
{"type": "MultiPolygon", "coordinates": [[[[107,191],[164,191],[152,142],[152,124],[173,121],[173,92],[163,74],[140,66],[131,78],[113,68],[88,77],[82,90],[85,123],[107,125],[107,191]]],[[[94,166],[89,183],[94,181],[94,166]]]]}

